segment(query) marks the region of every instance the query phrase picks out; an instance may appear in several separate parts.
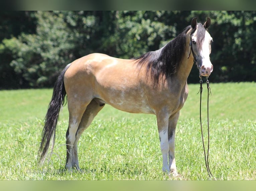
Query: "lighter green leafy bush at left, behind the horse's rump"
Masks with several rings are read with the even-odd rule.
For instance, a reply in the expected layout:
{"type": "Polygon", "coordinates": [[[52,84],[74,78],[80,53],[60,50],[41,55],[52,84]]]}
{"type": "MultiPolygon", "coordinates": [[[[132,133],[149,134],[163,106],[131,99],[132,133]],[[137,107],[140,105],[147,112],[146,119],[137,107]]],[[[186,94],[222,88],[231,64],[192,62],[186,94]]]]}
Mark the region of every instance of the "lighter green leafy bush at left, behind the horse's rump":
{"type": "MultiPolygon", "coordinates": [[[[51,12],[37,12],[37,34],[22,33],[18,39],[4,40],[4,46],[12,52],[10,66],[22,74],[31,87],[50,86],[59,71],[71,61],[69,50],[75,46],[63,16],[51,12]]],[[[74,59],[74,58],[73,58],[74,59]]]]}

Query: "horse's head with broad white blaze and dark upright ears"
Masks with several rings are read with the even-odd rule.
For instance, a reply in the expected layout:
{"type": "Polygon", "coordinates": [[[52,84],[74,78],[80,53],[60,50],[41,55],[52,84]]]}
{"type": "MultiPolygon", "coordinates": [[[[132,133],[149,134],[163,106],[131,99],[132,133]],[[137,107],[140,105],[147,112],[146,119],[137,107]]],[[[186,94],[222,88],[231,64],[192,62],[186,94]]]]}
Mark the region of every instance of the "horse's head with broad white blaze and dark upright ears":
{"type": "Polygon", "coordinates": [[[191,21],[190,47],[201,76],[210,76],[213,71],[213,65],[210,61],[213,38],[207,32],[210,24],[211,19],[209,17],[207,17],[204,25],[197,23],[196,17],[191,21]]]}

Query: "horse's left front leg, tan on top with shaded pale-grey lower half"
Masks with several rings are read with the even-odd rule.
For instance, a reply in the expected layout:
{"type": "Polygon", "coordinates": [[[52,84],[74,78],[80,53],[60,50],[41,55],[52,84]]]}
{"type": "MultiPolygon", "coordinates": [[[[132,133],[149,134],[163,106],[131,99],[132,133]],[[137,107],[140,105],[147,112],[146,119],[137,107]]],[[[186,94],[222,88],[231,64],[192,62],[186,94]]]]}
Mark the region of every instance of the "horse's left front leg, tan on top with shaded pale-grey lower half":
{"type": "Polygon", "coordinates": [[[170,168],[168,166],[168,152],[169,152],[169,143],[168,143],[168,121],[169,116],[164,112],[159,113],[156,116],[157,127],[160,139],[160,147],[163,156],[163,171],[169,173],[170,168]]]}

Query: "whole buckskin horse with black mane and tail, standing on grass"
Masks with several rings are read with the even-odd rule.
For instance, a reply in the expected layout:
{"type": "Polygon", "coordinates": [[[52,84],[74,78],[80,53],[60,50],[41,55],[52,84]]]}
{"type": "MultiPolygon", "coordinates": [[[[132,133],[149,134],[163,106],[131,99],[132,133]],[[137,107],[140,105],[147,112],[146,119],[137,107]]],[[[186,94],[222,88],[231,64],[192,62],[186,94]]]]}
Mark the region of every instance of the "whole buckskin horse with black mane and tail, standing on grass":
{"type": "Polygon", "coordinates": [[[164,47],[138,58],[119,59],[93,53],[68,64],[53,88],[41,134],[39,163],[46,158],[50,140],[53,149],[59,112],[67,99],[65,169],[80,170],[79,138],[104,105],[109,104],[130,113],[156,115],[162,170],[178,176],[174,156],[176,124],[188,95],[187,77],[194,62],[201,76],[209,77],[213,71],[210,61],[213,39],[207,31],[210,24],[210,18],[204,24],[193,18],[164,47]]]}

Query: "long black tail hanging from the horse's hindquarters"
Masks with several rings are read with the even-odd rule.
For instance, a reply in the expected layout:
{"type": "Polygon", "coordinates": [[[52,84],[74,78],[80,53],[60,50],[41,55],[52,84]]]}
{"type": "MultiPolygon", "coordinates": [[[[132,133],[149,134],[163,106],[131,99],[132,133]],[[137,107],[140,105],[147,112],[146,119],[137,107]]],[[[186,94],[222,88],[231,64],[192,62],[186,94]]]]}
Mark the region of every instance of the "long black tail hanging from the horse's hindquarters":
{"type": "Polygon", "coordinates": [[[70,67],[70,64],[67,65],[65,69],[61,72],[53,88],[51,101],[49,103],[48,110],[44,119],[44,127],[41,135],[42,141],[38,151],[38,156],[40,157],[39,158],[40,164],[42,164],[46,158],[51,138],[53,138],[51,151],[54,146],[55,130],[56,130],[56,125],[59,117],[59,111],[60,111],[60,108],[65,103],[65,96],[66,96],[66,91],[64,86],[64,75],[69,67],[70,67]]]}

